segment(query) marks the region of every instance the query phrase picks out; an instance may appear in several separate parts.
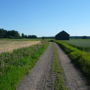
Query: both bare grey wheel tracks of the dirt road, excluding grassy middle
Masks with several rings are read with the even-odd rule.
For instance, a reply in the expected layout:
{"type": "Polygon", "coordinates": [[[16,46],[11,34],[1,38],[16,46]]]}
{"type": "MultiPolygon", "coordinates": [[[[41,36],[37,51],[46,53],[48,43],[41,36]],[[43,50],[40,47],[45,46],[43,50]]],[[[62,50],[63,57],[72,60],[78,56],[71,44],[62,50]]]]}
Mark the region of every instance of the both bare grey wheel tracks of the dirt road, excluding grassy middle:
{"type": "MultiPolygon", "coordinates": [[[[90,90],[86,81],[78,70],[75,69],[67,55],[58,47],[59,60],[64,69],[66,86],[69,90],[90,90]]],[[[40,57],[35,67],[21,81],[16,90],[54,90],[52,88],[51,65],[53,61],[53,47],[49,45],[45,53],[40,57]]]]}

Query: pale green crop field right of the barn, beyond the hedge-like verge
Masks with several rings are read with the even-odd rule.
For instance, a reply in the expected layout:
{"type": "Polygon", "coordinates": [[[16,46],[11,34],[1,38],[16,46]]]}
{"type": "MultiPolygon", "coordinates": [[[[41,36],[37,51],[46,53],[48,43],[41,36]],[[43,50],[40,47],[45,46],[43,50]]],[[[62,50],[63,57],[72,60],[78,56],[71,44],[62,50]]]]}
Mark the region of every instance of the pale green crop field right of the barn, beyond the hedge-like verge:
{"type": "Polygon", "coordinates": [[[90,51],[90,39],[70,39],[65,42],[85,51],[90,51]]]}

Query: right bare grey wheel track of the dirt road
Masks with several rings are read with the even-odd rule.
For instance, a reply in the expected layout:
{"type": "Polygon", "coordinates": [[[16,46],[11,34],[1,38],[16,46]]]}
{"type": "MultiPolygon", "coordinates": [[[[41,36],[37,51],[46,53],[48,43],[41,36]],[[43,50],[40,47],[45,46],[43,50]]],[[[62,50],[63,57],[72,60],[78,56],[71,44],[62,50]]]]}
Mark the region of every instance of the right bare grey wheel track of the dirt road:
{"type": "Polygon", "coordinates": [[[69,57],[57,44],[55,44],[55,46],[58,48],[59,60],[64,70],[66,85],[69,90],[90,90],[89,86],[86,84],[85,78],[74,67],[69,57]]]}

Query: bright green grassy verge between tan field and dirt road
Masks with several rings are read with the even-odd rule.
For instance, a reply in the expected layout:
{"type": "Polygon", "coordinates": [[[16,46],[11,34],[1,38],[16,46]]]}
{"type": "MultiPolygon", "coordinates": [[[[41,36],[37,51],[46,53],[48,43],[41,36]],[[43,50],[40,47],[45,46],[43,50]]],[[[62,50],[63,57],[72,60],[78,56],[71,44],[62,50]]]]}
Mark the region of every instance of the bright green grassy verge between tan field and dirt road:
{"type": "Polygon", "coordinates": [[[48,44],[0,54],[0,90],[15,90],[19,81],[30,71],[48,44]]]}

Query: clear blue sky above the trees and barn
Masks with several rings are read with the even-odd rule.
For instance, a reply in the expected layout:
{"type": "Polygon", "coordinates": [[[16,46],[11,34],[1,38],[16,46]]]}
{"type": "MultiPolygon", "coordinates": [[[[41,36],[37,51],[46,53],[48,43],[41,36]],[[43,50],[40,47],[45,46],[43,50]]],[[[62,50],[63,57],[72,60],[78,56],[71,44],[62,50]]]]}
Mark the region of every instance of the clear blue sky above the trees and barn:
{"type": "Polygon", "coordinates": [[[37,36],[90,36],[90,0],[0,0],[0,28],[37,36]]]}

